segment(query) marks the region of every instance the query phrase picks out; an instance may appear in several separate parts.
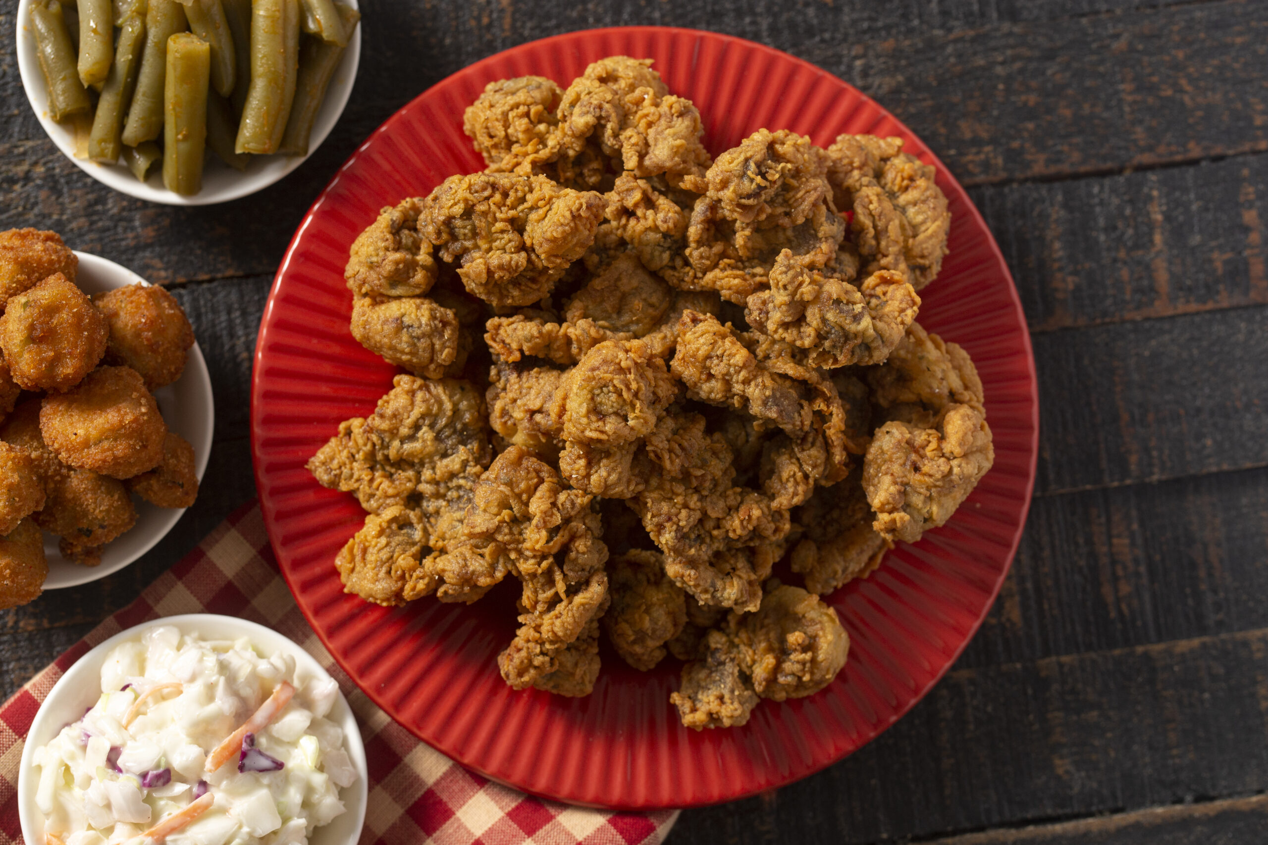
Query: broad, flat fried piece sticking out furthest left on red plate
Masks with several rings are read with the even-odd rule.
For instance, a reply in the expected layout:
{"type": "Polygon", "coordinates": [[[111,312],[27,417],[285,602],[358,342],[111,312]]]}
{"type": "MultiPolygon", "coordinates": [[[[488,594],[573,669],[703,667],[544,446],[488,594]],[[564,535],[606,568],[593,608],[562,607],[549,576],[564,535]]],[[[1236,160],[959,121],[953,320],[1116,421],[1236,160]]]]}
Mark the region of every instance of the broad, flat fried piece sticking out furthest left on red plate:
{"type": "Polygon", "coordinates": [[[484,403],[458,379],[398,375],[370,417],[340,424],[308,470],[325,486],[355,493],[370,513],[420,512],[424,543],[443,550],[492,457],[484,403]]]}

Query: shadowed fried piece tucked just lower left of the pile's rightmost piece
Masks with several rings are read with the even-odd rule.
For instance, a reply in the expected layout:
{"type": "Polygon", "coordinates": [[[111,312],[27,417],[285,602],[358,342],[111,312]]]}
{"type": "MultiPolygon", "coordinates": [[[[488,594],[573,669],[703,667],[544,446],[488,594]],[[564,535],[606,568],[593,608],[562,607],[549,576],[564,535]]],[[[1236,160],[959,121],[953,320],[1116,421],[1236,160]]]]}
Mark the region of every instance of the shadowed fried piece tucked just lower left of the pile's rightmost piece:
{"type": "Polygon", "coordinates": [[[824,595],[856,578],[867,578],[894,543],[872,528],[872,511],[857,471],[819,488],[792,512],[800,535],[792,547],[792,571],[805,588],[824,595]]]}

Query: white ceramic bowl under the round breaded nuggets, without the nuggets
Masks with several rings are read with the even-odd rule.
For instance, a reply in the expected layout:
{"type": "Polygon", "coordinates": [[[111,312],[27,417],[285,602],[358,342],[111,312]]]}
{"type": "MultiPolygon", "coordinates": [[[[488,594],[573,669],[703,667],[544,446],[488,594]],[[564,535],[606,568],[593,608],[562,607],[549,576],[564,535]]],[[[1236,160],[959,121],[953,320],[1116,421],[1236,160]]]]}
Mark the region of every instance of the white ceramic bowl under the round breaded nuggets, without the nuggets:
{"type": "MultiPolygon", "coordinates": [[[[86,252],[76,252],[75,255],[80,260],[79,286],[89,295],[138,281],[150,284],[113,261],[86,252]]],[[[203,361],[203,352],[198,348],[197,342],[194,348],[189,351],[185,371],[175,383],[155,390],[155,399],[158,402],[162,418],[167,422],[167,428],[188,440],[194,447],[195,469],[198,470],[198,480],[202,481],[203,473],[207,470],[207,459],[212,454],[216,405],[212,400],[212,378],[207,372],[207,362],[203,361]]],[[[132,502],[137,507],[137,524],[119,538],[105,545],[105,549],[101,550],[101,562],[98,566],[81,566],[66,560],[57,550],[57,537],[44,533],[44,556],[48,557],[46,590],[86,584],[119,571],[162,540],[164,535],[171,531],[176,521],[180,519],[180,514],[184,513],[183,509],[156,507],[139,497],[132,497],[132,502]]]]}

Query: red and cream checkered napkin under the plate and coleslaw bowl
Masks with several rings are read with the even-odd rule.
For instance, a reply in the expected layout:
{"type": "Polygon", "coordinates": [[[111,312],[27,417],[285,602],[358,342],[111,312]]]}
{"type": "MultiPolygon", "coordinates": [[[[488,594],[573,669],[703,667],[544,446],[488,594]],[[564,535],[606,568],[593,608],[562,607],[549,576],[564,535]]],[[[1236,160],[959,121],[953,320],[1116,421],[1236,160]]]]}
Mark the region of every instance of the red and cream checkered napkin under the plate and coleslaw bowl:
{"type": "Polygon", "coordinates": [[[224,521],[136,602],[99,625],[0,707],[0,845],[22,841],[18,761],[32,720],[58,678],[89,649],[141,622],[222,613],[284,633],[339,680],[356,713],[370,764],[360,845],[658,845],[677,811],[614,813],[525,796],[463,769],[375,707],[335,664],[295,607],[269,549],[256,504],[224,521]]]}

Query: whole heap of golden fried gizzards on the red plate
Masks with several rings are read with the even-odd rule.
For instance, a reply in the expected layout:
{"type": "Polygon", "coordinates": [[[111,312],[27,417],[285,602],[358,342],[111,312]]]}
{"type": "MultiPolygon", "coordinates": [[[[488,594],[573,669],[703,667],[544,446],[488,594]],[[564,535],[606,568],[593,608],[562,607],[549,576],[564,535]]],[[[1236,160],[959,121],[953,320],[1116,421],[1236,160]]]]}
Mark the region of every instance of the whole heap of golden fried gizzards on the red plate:
{"type": "Polygon", "coordinates": [[[602,631],[637,669],[686,661],[689,727],[823,689],[850,640],[819,595],[994,459],[973,362],[915,322],[933,168],[766,129],[714,160],[628,57],[492,82],[464,127],[488,167],[351,248],[353,334],[413,375],[308,465],[369,512],[346,590],[469,603],[514,575],[508,684],[588,694],[602,631]]]}

